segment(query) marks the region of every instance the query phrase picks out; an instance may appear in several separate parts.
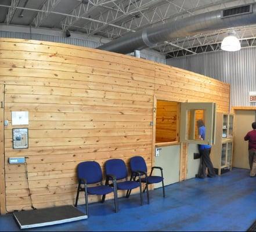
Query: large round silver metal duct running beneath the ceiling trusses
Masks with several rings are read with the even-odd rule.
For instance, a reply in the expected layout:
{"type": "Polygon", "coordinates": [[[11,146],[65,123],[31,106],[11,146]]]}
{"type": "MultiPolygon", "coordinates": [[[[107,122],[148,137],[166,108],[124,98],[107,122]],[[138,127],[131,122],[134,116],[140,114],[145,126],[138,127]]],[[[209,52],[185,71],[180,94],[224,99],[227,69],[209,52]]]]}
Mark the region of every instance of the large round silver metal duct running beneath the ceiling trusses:
{"type": "MultiPolygon", "coordinates": [[[[239,8],[239,6],[236,8],[239,8]]],[[[223,10],[215,10],[185,19],[167,21],[165,24],[157,24],[154,27],[146,27],[139,31],[131,32],[124,37],[99,46],[98,49],[127,54],[134,50],[153,47],[160,42],[170,41],[175,38],[224,28],[248,26],[256,23],[256,3],[251,4],[251,9],[251,13],[223,18],[223,10]]]]}

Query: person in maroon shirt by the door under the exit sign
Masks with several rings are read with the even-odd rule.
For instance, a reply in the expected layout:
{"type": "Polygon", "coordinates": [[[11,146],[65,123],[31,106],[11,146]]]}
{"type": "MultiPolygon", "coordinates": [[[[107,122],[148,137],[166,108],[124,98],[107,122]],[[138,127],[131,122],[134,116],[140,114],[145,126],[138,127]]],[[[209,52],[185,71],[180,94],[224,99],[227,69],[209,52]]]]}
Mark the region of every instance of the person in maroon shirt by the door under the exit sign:
{"type": "Polygon", "coordinates": [[[256,175],[256,122],[251,124],[253,131],[249,131],[244,137],[244,140],[248,140],[249,149],[249,165],[250,165],[250,176],[254,177],[256,175]]]}

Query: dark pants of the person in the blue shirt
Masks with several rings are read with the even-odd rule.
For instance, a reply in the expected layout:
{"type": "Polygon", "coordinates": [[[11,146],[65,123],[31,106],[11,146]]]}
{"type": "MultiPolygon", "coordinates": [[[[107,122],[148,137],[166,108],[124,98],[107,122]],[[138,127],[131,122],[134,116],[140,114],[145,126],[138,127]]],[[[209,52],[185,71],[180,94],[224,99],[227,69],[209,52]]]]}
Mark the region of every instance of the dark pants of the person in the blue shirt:
{"type": "Polygon", "coordinates": [[[200,165],[201,167],[199,170],[199,176],[205,177],[206,168],[208,168],[208,176],[214,177],[215,176],[214,167],[210,159],[211,148],[203,149],[203,150],[200,149],[199,153],[201,155],[201,165],[200,165]]]}

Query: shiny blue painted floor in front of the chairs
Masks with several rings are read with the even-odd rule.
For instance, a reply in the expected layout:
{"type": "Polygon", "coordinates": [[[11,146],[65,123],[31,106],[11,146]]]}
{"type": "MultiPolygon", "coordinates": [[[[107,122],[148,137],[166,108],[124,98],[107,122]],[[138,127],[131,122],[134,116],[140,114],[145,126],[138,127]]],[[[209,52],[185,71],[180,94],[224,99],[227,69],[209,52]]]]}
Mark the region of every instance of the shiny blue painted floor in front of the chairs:
{"type": "MultiPolygon", "coordinates": [[[[246,231],[256,220],[256,177],[245,169],[172,184],[166,195],[150,191],[143,206],[139,194],[121,198],[118,213],[113,200],[90,204],[88,220],[23,231],[246,231]]],[[[19,231],[12,215],[0,216],[0,231],[19,231]]]]}

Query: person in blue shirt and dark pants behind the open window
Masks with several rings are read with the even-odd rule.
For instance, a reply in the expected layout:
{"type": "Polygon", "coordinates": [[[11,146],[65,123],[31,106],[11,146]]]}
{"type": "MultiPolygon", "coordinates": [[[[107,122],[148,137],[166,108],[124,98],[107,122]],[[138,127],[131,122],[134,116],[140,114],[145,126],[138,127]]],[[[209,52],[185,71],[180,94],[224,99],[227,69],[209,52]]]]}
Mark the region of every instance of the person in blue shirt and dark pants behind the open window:
{"type": "MultiPolygon", "coordinates": [[[[199,139],[205,139],[205,126],[203,120],[197,121],[197,127],[199,128],[199,139]]],[[[204,178],[206,176],[206,168],[208,169],[208,177],[215,177],[214,167],[211,162],[210,153],[211,146],[208,144],[199,144],[199,153],[201,155],[201,164],[199,174],[196,177],[204,178]]]]}

